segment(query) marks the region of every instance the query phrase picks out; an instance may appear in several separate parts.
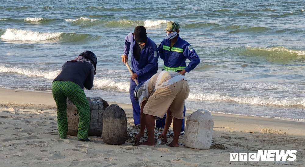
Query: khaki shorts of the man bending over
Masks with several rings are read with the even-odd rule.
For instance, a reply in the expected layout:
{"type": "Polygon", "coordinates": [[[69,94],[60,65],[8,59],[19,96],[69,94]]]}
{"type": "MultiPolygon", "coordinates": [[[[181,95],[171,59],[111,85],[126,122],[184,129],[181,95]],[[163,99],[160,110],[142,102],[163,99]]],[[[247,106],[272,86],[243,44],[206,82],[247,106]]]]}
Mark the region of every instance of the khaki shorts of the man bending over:
{"type": "Polygon", "coordinates": [[[189,94],[188,82],[178,81],[167,88],[156,89],[147,100],[144,107],[144,114],[163,118],[170,108],[171,116],[177,119],[183,119],[183,110],[185,99],[189,94]]]}

